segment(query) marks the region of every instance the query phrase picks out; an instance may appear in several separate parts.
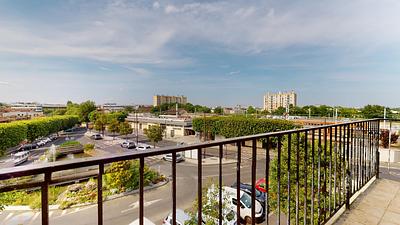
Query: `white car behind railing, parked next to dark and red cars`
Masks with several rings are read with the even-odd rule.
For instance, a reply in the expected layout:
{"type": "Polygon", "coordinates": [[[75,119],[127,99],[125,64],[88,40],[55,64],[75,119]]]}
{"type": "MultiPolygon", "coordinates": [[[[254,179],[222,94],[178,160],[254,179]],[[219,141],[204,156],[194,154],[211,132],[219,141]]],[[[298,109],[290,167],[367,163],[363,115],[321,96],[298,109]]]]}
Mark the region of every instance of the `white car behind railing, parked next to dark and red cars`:
{"type": "MultiPolygon", "coordinates": [[[[224,193],[226,193],[226,197],[228,199],[227,205],[228,207],[233,210],[236,211],[236,207],[238,204],[238,200],[236,199],[236,193],[238,190],[236,190],[235,188],[231,188],[231,187],[222,187],[224,193]]],[[[252,221],[251,218],[251,208],[255,207],[255,221],[257,223],[261,223],[264,221],[265,219],[265,213],[263,210],[263,206],[261,205],[260,202],[255,201],[255,206],[252,205],[251,202],[251,196],[249,194],[247,194],[244,191],[239,190],[239,204],[240,204],[240,217],[242,220],[244,220],[247,224],[250,224],[252,221]]],[[[225,197],[224,197],[225,198],[225,197]]]]}

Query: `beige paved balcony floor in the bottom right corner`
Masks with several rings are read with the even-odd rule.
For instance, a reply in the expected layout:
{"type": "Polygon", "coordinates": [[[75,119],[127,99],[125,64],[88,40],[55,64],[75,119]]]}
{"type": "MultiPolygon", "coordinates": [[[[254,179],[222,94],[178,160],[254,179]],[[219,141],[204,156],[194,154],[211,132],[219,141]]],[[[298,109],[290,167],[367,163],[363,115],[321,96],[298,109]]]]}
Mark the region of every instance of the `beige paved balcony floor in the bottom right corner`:
{"type": "Polygon", "coordinates": [[[335,224],[400,224],[400,181],[387,178],[375,180],[335,224]]]}

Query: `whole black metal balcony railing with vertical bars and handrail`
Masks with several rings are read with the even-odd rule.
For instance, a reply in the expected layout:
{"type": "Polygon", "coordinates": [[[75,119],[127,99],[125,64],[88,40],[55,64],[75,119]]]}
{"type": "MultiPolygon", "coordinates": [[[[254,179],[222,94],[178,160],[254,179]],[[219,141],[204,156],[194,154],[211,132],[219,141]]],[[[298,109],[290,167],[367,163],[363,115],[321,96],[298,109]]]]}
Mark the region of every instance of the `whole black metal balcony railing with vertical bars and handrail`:
{"type": "MultiPolygon", "coordinates": [[[[138,159],[140,162],[139,177],[139,223],[144,223],[144,182],[143,168],[147,157],[172,153],[172,217],[176,225],[176,155],[178,152],[197,149],[197,198],[198,225],[202,225],[202,149],[217,147],[219,157],[219,224],[222,225],[222,158],[224,145],[236,148],[236,185],[240,189],[242,152],[251,154],[251,201],[256,203],[256,178],[265,178],[267,192],[265,193],[264,213],[265,223],[269,217],[276,217],[276,223],[281,224],[324,224],[342,207],[350,207],[350,198],[363,188],[372,178],[379,177],[379,124],[381,120],[372,119],[358,122],[341,123],[329,126],[313,127],[279,131],[230,138],[194,145],[182,145],[151,149],[143,152],[123,153],[108,157],[92,157],[75,159],[65,162],[53,162],[40,165],[28,165],[0,170],[0,181],[31,175],[44,175],[42,181],[24,184],[9,184],[0,187],[1,192],[17,189],[41,188],[42,224],[49,224],[48,188],[50,185],[65,182],[52,179],[57,171],[76,169],[88,166],[98,166],[97,176],[97,215],[98,224],[103,224],[103,179],[105,164],[138,159]],[[261,146],[260,147],[260,143],[261,146]],[[257,174],[257,153],[262,152],[261,161],[263,173],[257,174]],[[265,154],[265,155],[264,155],[265,154]],[[285,216],[285,221],[281,217],[285,216]]],[[[237,191],[236,199],[240,199],[237,191]]],[[[250,220],[241,218],[241,207],[237,204],[237,224],[256,221],[255,207],[251,208],[250,220]]],[[[248,219],[248,218],[247,218],[248,219]]]]}

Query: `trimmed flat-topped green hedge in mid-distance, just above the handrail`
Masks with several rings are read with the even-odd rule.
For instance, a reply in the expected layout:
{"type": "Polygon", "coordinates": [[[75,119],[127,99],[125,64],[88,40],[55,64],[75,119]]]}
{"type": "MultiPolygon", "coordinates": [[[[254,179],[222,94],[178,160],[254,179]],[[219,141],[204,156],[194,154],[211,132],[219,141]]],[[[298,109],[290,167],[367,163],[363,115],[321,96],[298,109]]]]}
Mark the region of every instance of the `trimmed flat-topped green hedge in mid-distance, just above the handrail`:
{"type": "Polygon", "coordinates": [[[197,132],[211,132],[213,136],[226,138],[240,137],[298,128],[293,122],[277,119],[257,119],[243,116],[214,116],[193,119],[193,129],[197,132]]]}

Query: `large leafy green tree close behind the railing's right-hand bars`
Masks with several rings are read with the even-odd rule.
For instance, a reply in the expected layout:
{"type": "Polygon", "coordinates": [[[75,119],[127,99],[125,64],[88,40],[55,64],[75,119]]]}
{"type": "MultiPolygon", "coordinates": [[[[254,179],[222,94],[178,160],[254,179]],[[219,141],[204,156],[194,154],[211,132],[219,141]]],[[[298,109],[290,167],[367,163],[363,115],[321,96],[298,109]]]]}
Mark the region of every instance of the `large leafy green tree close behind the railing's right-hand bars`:
{"type": "MultiPolygon", "coordinates": [[[[309,137],[309,139],[311,139],[309,137]]],[[[311,202],[314,204],[314,224],[319,224],[318,221],[322,222],[322,218],[318,218],[318,209],[323,212],[324,208],[328,208],[329,200],[333,202],[334,197],[337,197],[337,192],[339,190],[332,190],[335,193],[329,199],[328,188],[329,182],[332,184],[334,181],[334,169],[336,168],[336,179],[337,184],[343,181],[343,174],[340,171],[344,171],[343,166],[340,164],[341,153],[337,150],[333,144],[332,151],[329,144],[325,146],[324,143],[319,144],[317,141],[314,143],[314,157],[312,152],[312,142],[308,140],[305,141],[305,135],[300,135],[300,142],[297,141],[297,135],[292,135],[291,137],[291,151],[290,151],[290,167],[289,167],[289,157],[288,157],[288,139],[283,140],[281,159],[278,161],[278,157],[274,157],[271,163],[271,175],[270,175],[270,206],[272,210],[277,210],[277,200],[278,200],[278,165],[280,166],[280,209],[283,213],[288,215],[287,207],[290,204],[290,215],[291,220],[295,221],[296,215],[296,188],[297,180],[299,189],[299,223],[304,221],[304,205],[307,207],[307,221],[306,224],[311,224],[311,202]],[[306,148],[307,143],[307,148],[306,148]],[[299,146],[299,150],[297,150],[299,146]],[[306,151],[307,149],[307,151],[306,151]],[[307,152],[307,154],[306,154],[307,152]],[[314,160],[313,160],[314,158],[314,160]],[[332,161],[330,160],[332,158],[332,161]],[[298,165],[298,179],[297,179],[297,165],[298,165]],[[336,167],[335,167],[336,166],[336,167]],[[329,173],[329,169],[332,168],[332,173],[329,173]],[[324,171],[327,171],[325,174],[324,171]],[[320,171],[320,175],[318,175],[320,171]],[[307,173],[306,173],[307,172],[307,173]],[[306,179],[307,174],[307,179],[306,179]],[[290,202],[288,202],[288,175],[290,175],[290,202]],[[320,180],[321,187],[318,187],[318,180],[320,180]],[[306,185],[305,185],[306,183],[306,185]],[[324,184],[326,183],[326,186],[324,184]],[[318,196],[318,189],[320,188],[320,195],[318,196]],[[307,191],[307,194],[306,194],[307,191]],[[312,194],[313,198],[312,198],[312,194]],[[306,196],[306,199],[304,197],[306,196]],[[325,205],[324,205],[325,204],[325,205]]],[[[343,189],[343,187],[342,187],[343,189]]]]}

